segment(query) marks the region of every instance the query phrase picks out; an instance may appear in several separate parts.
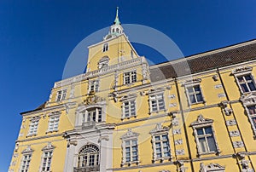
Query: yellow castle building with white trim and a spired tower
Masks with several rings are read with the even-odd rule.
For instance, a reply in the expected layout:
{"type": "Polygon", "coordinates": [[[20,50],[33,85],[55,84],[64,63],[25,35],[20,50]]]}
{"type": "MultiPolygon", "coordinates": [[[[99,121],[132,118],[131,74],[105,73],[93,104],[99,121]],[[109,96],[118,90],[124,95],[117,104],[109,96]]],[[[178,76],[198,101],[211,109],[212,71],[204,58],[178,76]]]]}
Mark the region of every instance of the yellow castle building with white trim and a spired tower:
{"type": "Polygon", "coordinates": [[[21,113],[9,172],[255,171],[256,40],[149,66],[117,13],[88,49],[21,113]]]}

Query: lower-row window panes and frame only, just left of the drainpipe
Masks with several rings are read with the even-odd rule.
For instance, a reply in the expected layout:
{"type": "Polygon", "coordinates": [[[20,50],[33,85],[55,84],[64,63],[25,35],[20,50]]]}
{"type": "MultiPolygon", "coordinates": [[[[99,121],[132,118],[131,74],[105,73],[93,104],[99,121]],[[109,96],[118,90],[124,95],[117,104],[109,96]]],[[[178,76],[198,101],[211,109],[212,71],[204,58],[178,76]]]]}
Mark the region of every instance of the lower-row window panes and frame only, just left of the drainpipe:
{"type": "Polygon", "coordinates": [[[156,158],[170,158],[168,135],[154,135],[154,148],[156,158]]]}

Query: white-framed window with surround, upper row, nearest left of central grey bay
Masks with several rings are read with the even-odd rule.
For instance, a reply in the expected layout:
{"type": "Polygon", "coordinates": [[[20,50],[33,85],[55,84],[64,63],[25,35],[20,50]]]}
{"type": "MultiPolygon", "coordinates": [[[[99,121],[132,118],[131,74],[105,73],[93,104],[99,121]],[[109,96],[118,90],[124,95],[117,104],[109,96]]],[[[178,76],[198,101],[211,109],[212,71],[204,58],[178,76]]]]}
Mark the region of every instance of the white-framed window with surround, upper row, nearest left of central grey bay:
{"type": "Polygon", "coordinates": [[[51,112],[49,113],[48,117],[49,117],[49,121],[48,121],[48,129],[46,133],[57,132],[59,128],[61,112],[51,112]]]}

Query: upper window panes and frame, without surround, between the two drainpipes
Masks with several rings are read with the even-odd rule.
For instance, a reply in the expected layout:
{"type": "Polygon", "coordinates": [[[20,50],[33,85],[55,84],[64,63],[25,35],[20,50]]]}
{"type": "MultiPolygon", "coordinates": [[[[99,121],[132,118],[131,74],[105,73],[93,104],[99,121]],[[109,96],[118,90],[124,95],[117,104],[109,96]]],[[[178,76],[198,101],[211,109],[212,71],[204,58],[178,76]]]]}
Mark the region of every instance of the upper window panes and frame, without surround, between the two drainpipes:
{"type": "Polygon", "coordinates": [[[200,85],[188,87],[189,102],[191,104],[203,102],[200,85]]]}

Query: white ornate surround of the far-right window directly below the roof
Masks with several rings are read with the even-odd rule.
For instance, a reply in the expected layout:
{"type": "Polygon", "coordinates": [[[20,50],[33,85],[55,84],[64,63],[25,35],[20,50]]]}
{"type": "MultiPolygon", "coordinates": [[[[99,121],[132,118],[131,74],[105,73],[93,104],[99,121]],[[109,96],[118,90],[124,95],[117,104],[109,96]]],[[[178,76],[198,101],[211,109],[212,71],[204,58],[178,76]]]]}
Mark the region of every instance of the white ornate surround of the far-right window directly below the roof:
{"type": "Polygon", "coordinates": [[[232,74],[234,75],[234,77],[236,78],[236,84],[238,85],[239,89],[240,89],[240,92],[241,94],[248,94],[248,93],[251,93],[251,92],[255,92],[255,87],[256,87],[256,84],[255,84],[255,78],[253,77],[252,75],[252,71],[253,71],[253,67],[250,67],[250,66],[244,66],[244,67],[239,67],[239,68],[236,68],[235,70],[233,70],[232,74]],[[251,77],[250,81],[248,81],[246,77],[251,77]],[[243,81],[239,81],[238,78],[241,78],[243,81]],[[252,83],[252,85],[250,85],[250,83],[252,83]],[[241,84],[244,85],[245,89],[246,90],[243,90],[242,87],[241,87],[241,84]],[[251,88],[253,86],[253,88],[251,88]],[[253,89],[253,90],[251,90],[253,89]]]}

